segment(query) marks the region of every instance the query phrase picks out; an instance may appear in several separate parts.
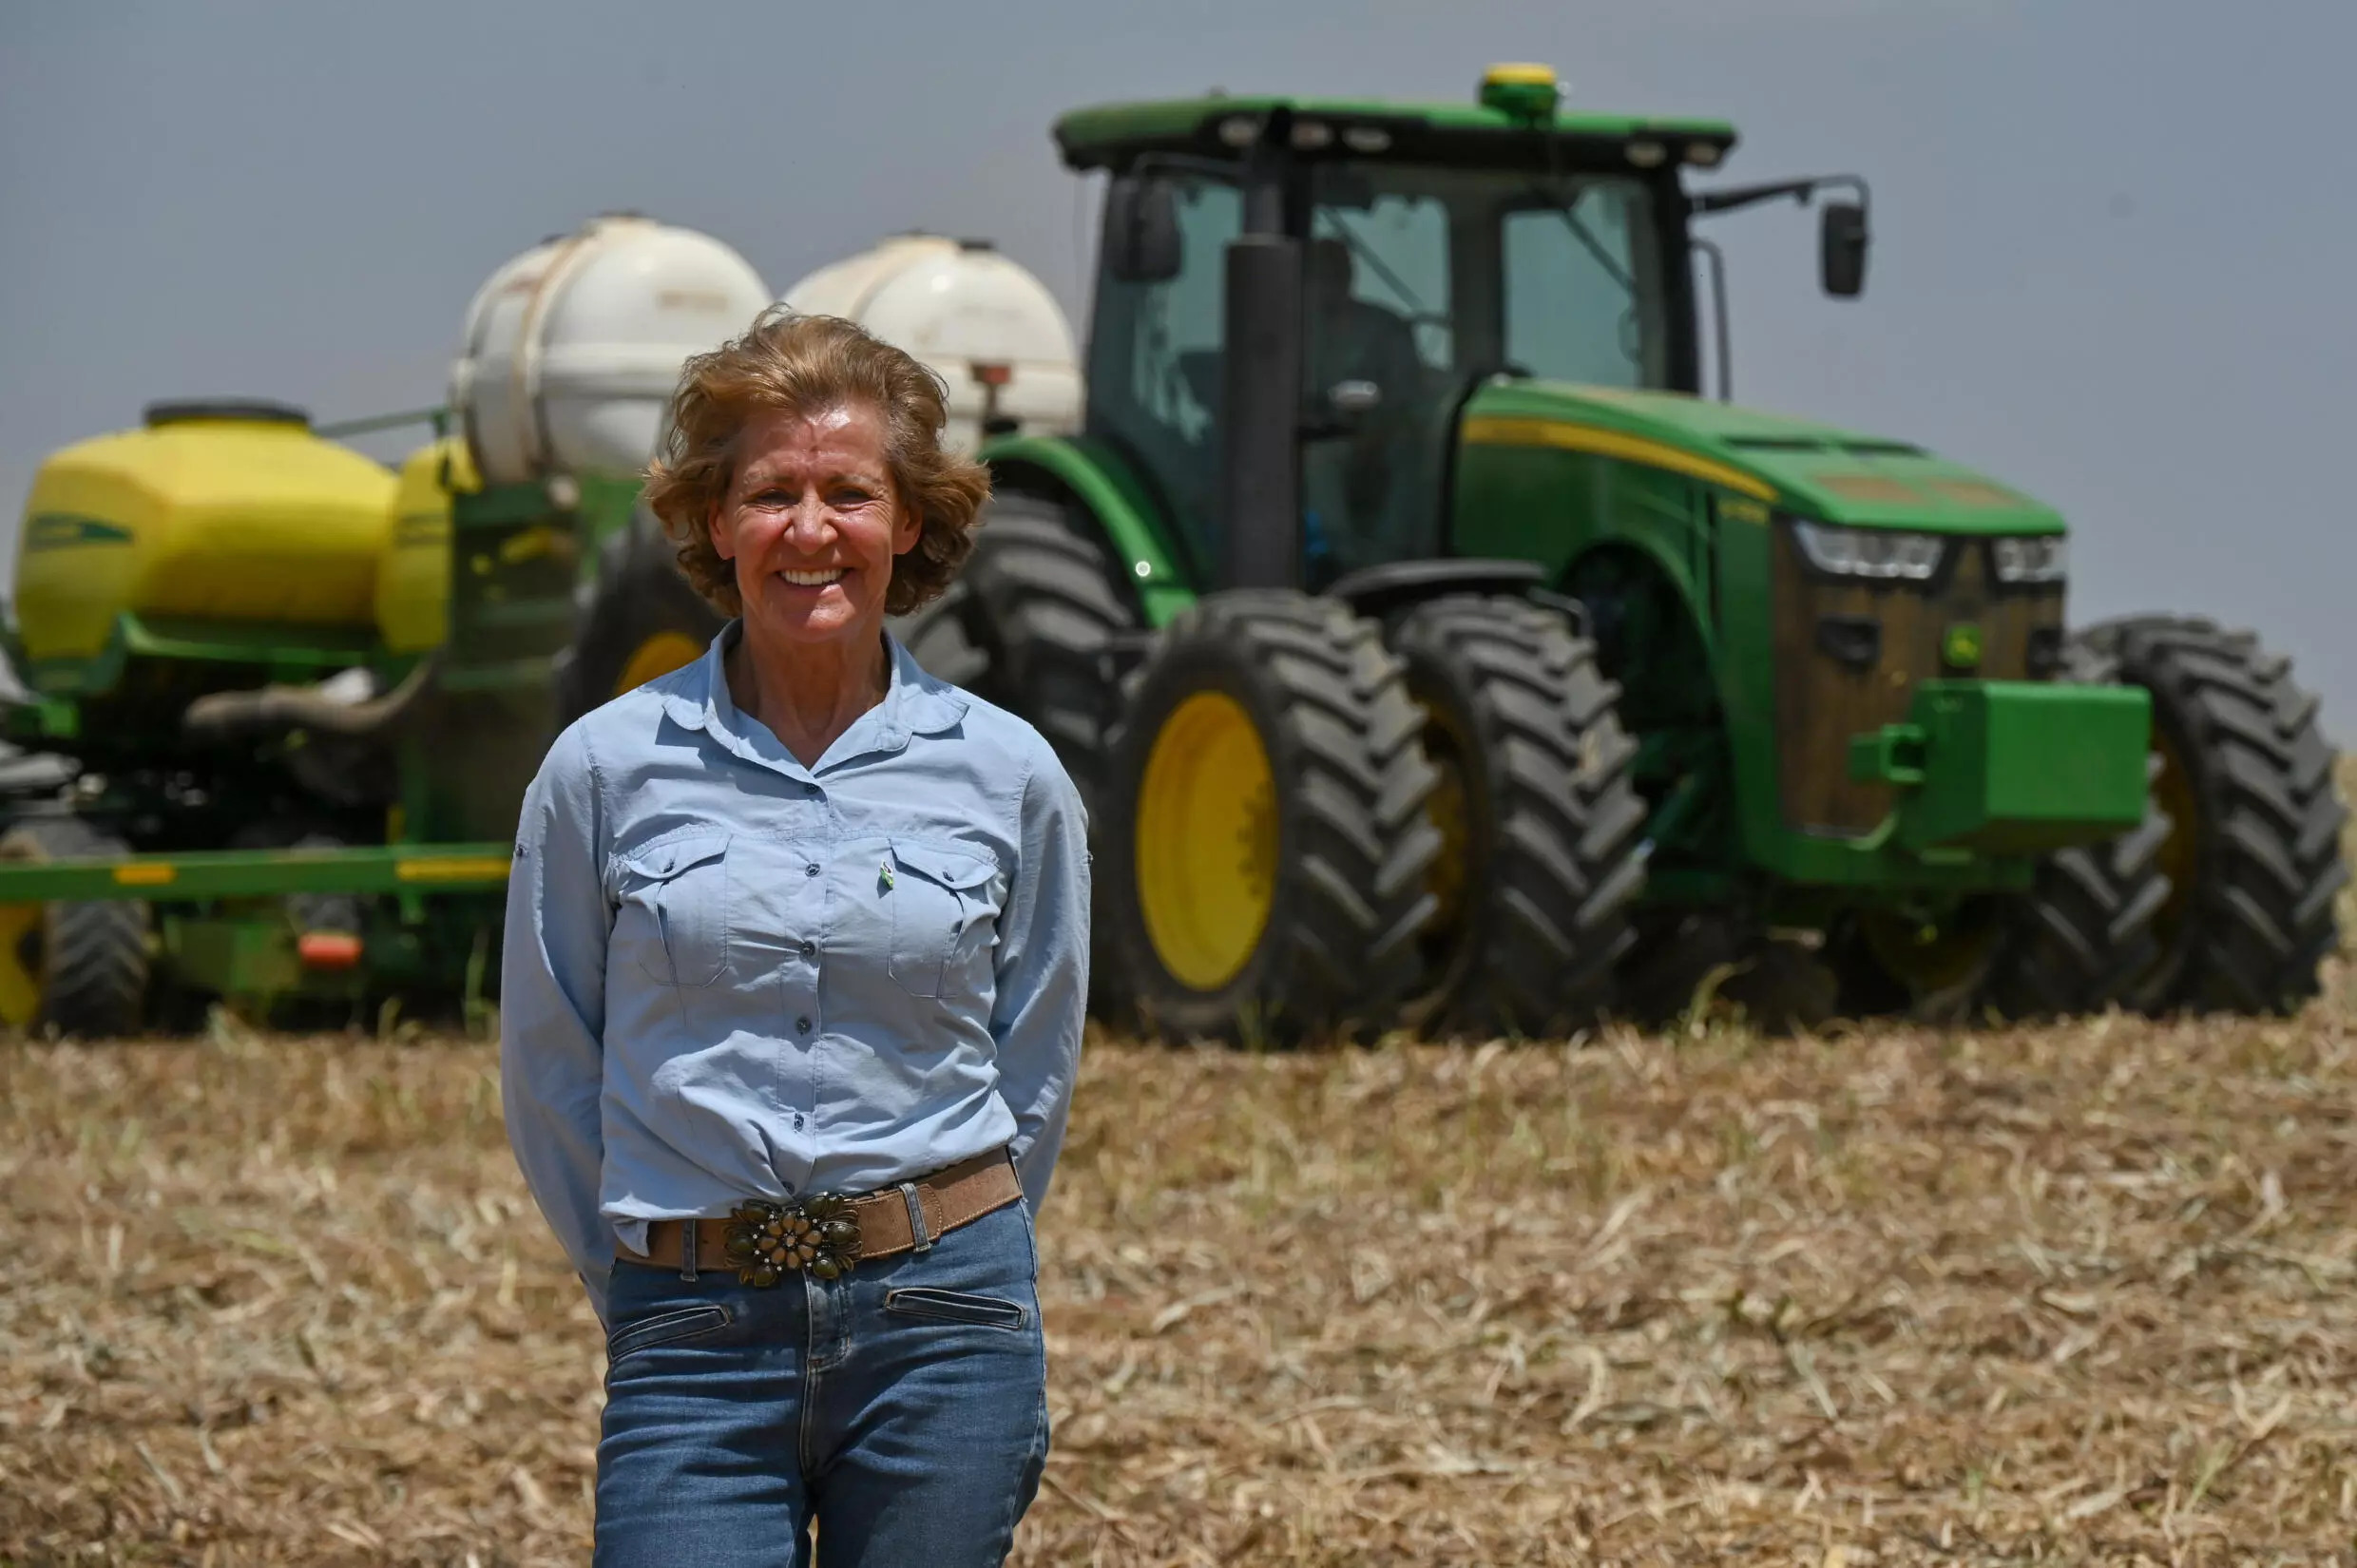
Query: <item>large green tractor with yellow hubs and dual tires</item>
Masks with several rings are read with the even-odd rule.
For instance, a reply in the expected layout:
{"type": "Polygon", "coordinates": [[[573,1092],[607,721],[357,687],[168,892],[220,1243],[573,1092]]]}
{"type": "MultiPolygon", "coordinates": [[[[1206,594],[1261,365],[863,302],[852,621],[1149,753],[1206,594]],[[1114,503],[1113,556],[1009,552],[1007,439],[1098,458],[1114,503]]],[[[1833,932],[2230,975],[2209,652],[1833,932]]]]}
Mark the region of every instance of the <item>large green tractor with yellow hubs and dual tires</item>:
{"type": "Polygon", "coordinates": [[[1784,934],[1817,1009],[2315,995],[2343,804],[2286,660],[2072,632],[2053,509],[1704,396],[1697,226],[1841,193],[1848,297],[1862,182],[1688,189],[1728,125],[1565,113],[1539,66],[1054,134],[1108,174],[1087,427],[985,446],[903,634],[1089,792],[1103,1000],[1565,1030],[1784,934]]]}

